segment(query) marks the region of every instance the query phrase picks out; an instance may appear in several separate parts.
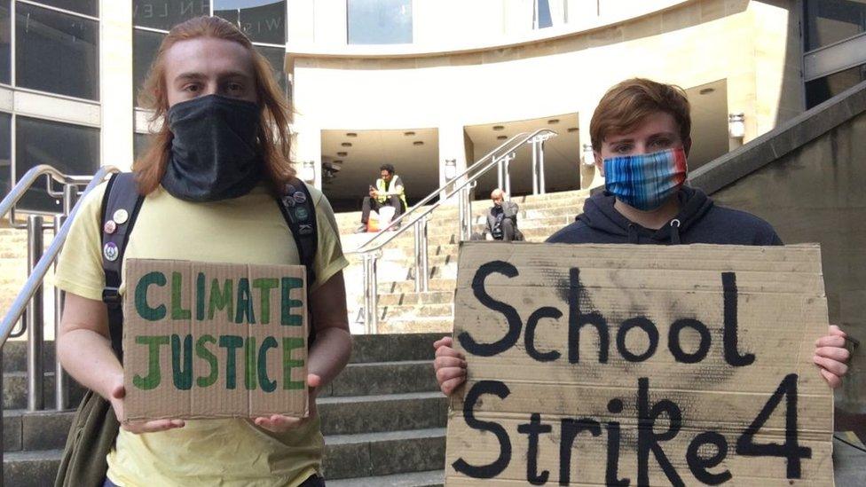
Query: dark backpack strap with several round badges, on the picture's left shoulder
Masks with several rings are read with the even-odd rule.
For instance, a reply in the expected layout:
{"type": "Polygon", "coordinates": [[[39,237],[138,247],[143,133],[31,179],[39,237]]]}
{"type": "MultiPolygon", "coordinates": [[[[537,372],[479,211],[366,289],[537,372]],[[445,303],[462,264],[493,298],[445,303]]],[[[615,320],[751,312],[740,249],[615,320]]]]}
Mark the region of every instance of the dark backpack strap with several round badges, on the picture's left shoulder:
{"type": "Polygon", "coordinates": [[[123,302],[119,292],[122,280],[123,253],[129,243],[132,226],[145,197],[138,194],[135,175],[131,172],[113,174],[108,180],[102,199],[102,269],[106,287],[102,301],[108,309],[108,332],[111,348],[123,361],[123,302]]]}

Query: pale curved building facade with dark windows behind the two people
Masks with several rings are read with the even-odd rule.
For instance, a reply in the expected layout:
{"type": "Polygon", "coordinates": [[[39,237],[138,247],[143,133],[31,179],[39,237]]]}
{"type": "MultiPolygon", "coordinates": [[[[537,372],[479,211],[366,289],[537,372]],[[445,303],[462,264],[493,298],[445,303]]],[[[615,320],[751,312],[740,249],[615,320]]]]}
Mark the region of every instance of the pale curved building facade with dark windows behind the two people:
{"type": "MultiPolygon", "coordinates": [[[[548,128],[547,191],[601,180],[584,150],[610,85],[687,90],[695,168],[864,78],[862,0],[2,0],[0,192],[36,164],[129,169],[151,126],[138,87],[177,22],[216,14],[270,59],[295,159],[356,209],[390,162],[418,200],[508,137],[548,128]]],[[[512,191],[531,191],[526,161],[512,191]]],[[[495,185],[481,182],[479,196],[495,185]]],[[[51,211],[34,190],[22,203],[51,211]]]]}

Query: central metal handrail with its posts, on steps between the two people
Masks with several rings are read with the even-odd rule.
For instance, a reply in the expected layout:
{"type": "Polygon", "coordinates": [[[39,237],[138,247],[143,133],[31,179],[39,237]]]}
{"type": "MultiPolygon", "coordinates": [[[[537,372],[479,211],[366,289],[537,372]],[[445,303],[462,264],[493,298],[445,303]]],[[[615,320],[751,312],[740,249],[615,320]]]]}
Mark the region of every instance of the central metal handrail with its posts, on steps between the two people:
{"type": "MultiPolygon", "coordinates": [[[[415,234],[415,292],[426,292],[429,287],[427,216],[429,216],[430,213],[432,213],[436,208],[438,208],[442,204],[443,200],[445,200],[445,198],[451,197],[453,194],[459,194],[460,200],[458,202],[460,216],[458,220],[460,225],[461,240],[468,239],[469,233],[471,232],[471,224],[469,222],[471,222],[472,218],[471,201],[469,200],[468,194],[469,190],[475,187],[478,178],[487,174],[487,172],[494,166],[500,166],[500,168],[506,169],[508,167],[509,161],[513,159],[514,152],[521,145],[527,143],[531,143],[533,146],[532,189],[533,191],[538,192],[540,188],[540,192],[543,194],[543,180],[540,182],[539,185],[539,177],[544,177],[543,145],[544,141],[547,140],[547,138],[555,137],[556,135],[556,132],[553,130],[539,129],[531,132],[528,135],[526,132],[522,132],[514,137],[509,138],[505,143],[496,147],[490,153],[484,155],[484,157],[473,163],[466,170],[461,172],[461,174],[451,178],[448,183],[440,186],[439,188],[437,188],[437,190],[430,192],[424,199],[416,203],[412,208],[406,210],[403,215],[398,216],[398,218],[394,219],[388,226],[381,229],[381,231],[375,234],[373,238],[366,240],[366,242],[361,244],[355,250],[346,252],[347,255],[361,255],[363,259],[364,314],[366,317],[365,325],[368,333],[377,333],[378,331],[378,279],[376,277],[376,260],[381,255],[382,247],[385,247],[392,240],[398,238],[398,236],[400,236],[403,232],[407,231],[410,227],[413,228],[415,234]],[[541,169],[538,170],[539,168],[541,169]],[[474,172],[474,174],[467,177],[470,172],[474,172]],[[461,181],[461,179],[464,177],[465,180],[461,181]],[[445,193],[445,198],[441,197],[443,193],[445,193]],[[437,202],[424,208],[425,205],[427,205],[437,196],[440,196],[437,202]],[[418,214],[417,216],[413,215],[412,217],[410,217],[410,215],[412,215],[413,213],[418,212],[420,212],[420,214],[418,214]],[[372,242],[374,242],[374,240],[380,239],[382,235],[386,234],[386,231],[393,229],[395,225],[401,224],[403,221],[410,218],[411,221],[409,222],[409,224],[398,228],[397,232],[387,232],[388,236],[384,237],[384,240],[378,242],[376,245],[372,245],[372,242]]],[[[507,172],[507,169],[500,170],[500,179],[502,179],[503,177],[508,178],[507,174],[503,174],[507,172]]]]}

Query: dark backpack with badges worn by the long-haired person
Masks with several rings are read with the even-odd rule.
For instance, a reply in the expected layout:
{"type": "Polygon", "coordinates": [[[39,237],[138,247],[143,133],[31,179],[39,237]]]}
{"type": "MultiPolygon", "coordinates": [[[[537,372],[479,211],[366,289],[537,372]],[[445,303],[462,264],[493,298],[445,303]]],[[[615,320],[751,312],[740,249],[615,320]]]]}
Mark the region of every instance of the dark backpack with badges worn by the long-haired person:
{"type": "MultiPolygon", "coordinates": [[[[133,173],[116,173],[108,180],[100,211],[102,267],[106,275],[102,301],[106,303],[108,310],[111,347],[121,363],[123,312],[118,289],[122,278],[123,253],[144,200],[145,197],[138,194],[133,173]]],[[[301,180],[295,178],[286,185],[277,204],[295,239],[301,263],[306,267],[309,293],[316,280],[313,261],[319,247],[316,208],[310,190],[301,180]]],[[[314,339],[315,333],[311,324],[308,346],[314,339]]],[[[87,390],[75,411],[75,419],[54,480],[55,487],[101,487],[108,470],[106,455],[114,446],[119,428],[120,422],[114,416],[111,403],[92,390],[87,390]]]]}

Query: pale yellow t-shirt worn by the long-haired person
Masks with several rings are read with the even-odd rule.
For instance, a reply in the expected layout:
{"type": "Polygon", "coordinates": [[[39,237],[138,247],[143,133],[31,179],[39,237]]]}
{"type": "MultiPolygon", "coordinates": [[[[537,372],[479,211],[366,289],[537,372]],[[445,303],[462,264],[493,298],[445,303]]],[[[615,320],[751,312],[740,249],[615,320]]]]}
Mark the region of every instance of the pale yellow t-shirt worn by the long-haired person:
{"type": "MultiPolygon", "coordinates": [[[[100,210],[106,185],[94,189],[69,232],[55,285],[102,299],[100,210]]],[[[334,211],[310,188],[319,248],[316,284],[349,263],[342,255],[334,211]]],[[[124,258],[214,263],[299,264],[297,247],[279,206],[264,185],[234,200],[192,203],[161,188],[146,197],[124,258]]],[[[121,286],[121,295],[125,286],[121,286]]],[[[123,485],[287,485],[320,471],[324,439],[319,420],[284,434],[249,420],[187,420],[184,428],[135,435],[121,429],[108,454],[108,478],[123,485]]]]}

